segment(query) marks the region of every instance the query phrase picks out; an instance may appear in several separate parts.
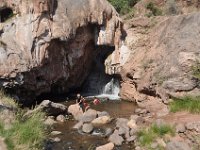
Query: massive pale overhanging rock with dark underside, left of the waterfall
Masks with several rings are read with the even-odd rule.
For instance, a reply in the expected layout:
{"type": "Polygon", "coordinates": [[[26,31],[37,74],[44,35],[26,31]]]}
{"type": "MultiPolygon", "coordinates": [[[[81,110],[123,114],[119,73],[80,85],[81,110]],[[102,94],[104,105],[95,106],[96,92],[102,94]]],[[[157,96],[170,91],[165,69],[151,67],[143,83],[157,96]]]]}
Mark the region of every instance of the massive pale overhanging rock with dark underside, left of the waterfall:
{"type": "Polygon", "coordinates": [[[77,88],[88,75],[96,46],[119,49],[122,22],[106,0],[0,4],[0,11],[14,13],[0,23],[0,86],[22,97],[77,88]]]}

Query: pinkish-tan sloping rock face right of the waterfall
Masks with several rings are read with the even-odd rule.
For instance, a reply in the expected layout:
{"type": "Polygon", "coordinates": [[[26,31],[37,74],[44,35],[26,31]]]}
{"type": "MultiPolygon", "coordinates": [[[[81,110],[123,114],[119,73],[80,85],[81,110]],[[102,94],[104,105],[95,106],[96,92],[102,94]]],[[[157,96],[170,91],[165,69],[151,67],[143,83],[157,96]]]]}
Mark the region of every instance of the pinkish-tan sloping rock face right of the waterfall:
{"type": "Polygon", "coordinates": [[[200,13],[174,17],[134,18],[127,22],[131,57],[122,68],[121,95],[168,100],[200,93],[200,13]]]}

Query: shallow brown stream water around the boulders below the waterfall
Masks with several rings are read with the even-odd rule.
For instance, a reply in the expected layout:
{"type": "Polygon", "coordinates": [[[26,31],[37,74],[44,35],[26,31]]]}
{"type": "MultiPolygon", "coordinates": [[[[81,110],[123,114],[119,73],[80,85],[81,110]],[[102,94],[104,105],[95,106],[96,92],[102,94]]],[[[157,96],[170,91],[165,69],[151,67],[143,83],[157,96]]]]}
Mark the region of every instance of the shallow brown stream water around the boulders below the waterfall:
{"type": "MultiPolygon", "coordinates": [[[[74,103],[68,102],[66,105],[74,103]]],[[[112,118],[129,118],[134,113],[134,103],[120,101],[120,100],[109,100],[103,101],[101,104],[94,106],[91,104],[91,108],[98,111],[107,111],[112,118]]],[[[57,124],[55,130],[61,131],[62,135],[56,136],[61,139],[61,142],[53,144],[53,150],[95,150],[96,146],[100,146],[108,143],[108,139],[102,137],[101,132],[105,128],[111,127],[114,129],[115,120],[110,124],[95,128],[95,135],[83,134],[77,130],[73,130],[73,126],[77,123],[74,120],[67,120],[65,123],[57,124]],[[99,134],[100,133],[100,134],[99,134]]],[[[132,150],[133,144],[124,143],[120,147],[115,147],[115,150],[132,150]]]]}

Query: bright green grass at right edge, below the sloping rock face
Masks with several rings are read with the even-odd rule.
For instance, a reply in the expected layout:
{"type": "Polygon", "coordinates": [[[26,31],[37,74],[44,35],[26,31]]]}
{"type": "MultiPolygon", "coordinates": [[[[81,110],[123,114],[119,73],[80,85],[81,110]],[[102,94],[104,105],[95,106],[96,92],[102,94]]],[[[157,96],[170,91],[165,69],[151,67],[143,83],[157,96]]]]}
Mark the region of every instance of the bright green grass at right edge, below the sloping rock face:
{"type": "Polygon", "coordinates": [[[170,103],[171,112],[188,111],[191,113],[200,113],[200,96],[184,96],[174,98],[170,103]]]}

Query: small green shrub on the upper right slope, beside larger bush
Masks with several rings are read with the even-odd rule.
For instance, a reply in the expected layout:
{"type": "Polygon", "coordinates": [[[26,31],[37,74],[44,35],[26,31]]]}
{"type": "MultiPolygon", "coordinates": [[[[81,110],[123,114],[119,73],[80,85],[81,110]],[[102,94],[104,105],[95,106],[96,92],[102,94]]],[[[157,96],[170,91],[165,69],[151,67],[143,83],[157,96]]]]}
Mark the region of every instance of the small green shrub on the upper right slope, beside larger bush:
{"type": "Polygon", "coordinates": [[[151,11],[149,14],[147,14],[148,17],[162,15],[162,10],[155,6],[153,2],[149,2],[146,8],[151,11]]]}

